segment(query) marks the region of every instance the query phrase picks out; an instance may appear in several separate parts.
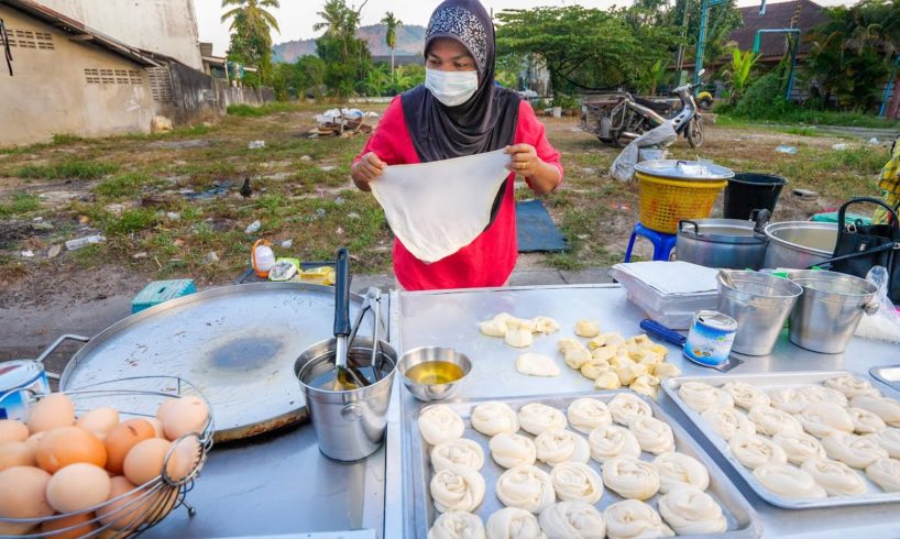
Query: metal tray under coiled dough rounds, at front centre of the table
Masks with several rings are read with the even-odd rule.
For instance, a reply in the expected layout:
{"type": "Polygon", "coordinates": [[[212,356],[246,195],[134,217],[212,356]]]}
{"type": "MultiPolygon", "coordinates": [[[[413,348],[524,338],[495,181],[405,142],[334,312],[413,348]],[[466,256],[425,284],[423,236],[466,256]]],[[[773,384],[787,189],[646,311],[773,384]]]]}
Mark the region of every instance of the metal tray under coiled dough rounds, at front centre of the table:
{"type": "MultiPolygon", "coordinates": [[[[490,517],[494,512],[502,509],[504,505],[497,499],[494,494],[495,485],[497,479],[505,472],[506,470],[500,466],[493,459],[491,459],[491,451],[487,447],[487,442],[490,441],[490,437],[482,435],[481,432],[474,430],[471,427],[471,422],[469,418],[471,417],[472,409],[481,403],[487,400],[500,400],[504,402],[509,405],[514,410],[518,410],[522,406],[529,404],[529,403],[542,403],[548,406],[552,406],[555,408],[560,409],[561,411],[566,413],[566,408],[572,400],[581,397],[591,397],[596,398],[599,400],[603,400],[604,403],[611,400],[619,393],[630,393],[630,392],[585,392],[585,393],[578,393],[578,394],[569,394],[564,397],[553,397],[553,396],[534,396],[534,397],[516,397],[516,398],[480,398],[480,399],[472,399],[472,400],[464,400],[464,402],[457,402],[457,403],[447,403],[447,405],[453,409],[460,417],[463,418],[465,421],[465,432],[463,435],[464,438],[473,440],[478,442],[482,449],[484,450],[484,468],[481,470],[481,474],[484,476],[485,484],[487,486],[484,495],[484,502],[482,502],[481,506],[479,507],[476,514],[482,518],[483,521],[487,521],[487,517],[490,517]]],[[[638,396],[639,397],[639,396],[638,396]]],[[[644,397],[640,397],[644,398],[644,397]]],[[[728,520],[728,531],[722,534],[721,537],[726,538],[755,538],[761,535],[761,525],[759,524],[758,517],[756,516],[756,512],[753,509],[750,504],[744,498],[740,492],[732,484],[722,470],[715,464],[715,462],[710,458],[710,455],[703,451],[700,446],[678,425],[674,419],[672,419],[668,414],[662,411],[662,409],[652,400],[644,398],[647,404],[650,405],[650,408],[654,411],[654,417],[666,421],[672,428],[672,432],[674,433],[676,439],[676,448],[679,452],[684,454],[691,455],[703,463],[710,472],[710,487],[707,488],[707,493],[712,495],[716,502],[722,506],[723,514],[725,518],[728,520]]],[[[432,476],[430,458],[428,451],[426,450],[426,443],[419,436],[419,428],[418,428],[418,416],[419,411],[431,405],[432,403],[419,403],[413,410],[409,410],[405,424],[404,424],[404,443],[410,449],[409,451],[409,460],[408,464],[411,465],[411,473],[413,473],[413,488],[407,490],[404,493],[404,513],[406,514],[405,520],[406,525],[406,532],[407,537],[426,537],[428,535],[428,530],[433,524],[435,519],[437,518],[437,512],[435,509],[435,504],[431,501],[431,492],[429,488],[429,484],[432,476]],[[410,514],[410,512],[413,512],[410,514]]],[[[577,432],[578,431],[573,431],[577,432]]],[[[527,432],[519,431],[520,435],[527,436],[529,438],[534,438],[527,432]]],[[[584,435],[581,435],[584,436],[584,435]]],[[[654,455],[649,453],[643,453],[643,460],[651,460],[654,455]]],[[[549,472],[550,466],[544,463],[536,463],[538,468],[541,470],[549,472]]],[[[594,460],[590,460],[588,465],[590,465],[595,472],[601,472],[601,465],[594,460]]],[[[604,494],[601,501],[596,504],[597,509],[603,510],[608,505],[619,502],[623,498],[618,496],[616,493],[606,488],[604,485],[604,494]]],[[[656,508],[656,501],[657,496],[654,496],[649,501],[648,504],[656,508]]]]}

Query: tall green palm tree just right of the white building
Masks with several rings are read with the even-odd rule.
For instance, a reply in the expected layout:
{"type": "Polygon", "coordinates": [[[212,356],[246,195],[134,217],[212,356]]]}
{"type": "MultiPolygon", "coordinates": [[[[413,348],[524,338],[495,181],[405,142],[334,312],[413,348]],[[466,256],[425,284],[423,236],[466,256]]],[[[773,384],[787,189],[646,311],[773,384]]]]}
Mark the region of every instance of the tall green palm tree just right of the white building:
{"type": "Polygon", "coordinates": [[[278,21],[266,8],[278,8],[278,0],[222,0],[222,22],[231,20],[229,59],[256,66],[259,82],[272,78],[272,30],[279,32],[278,21]]]}

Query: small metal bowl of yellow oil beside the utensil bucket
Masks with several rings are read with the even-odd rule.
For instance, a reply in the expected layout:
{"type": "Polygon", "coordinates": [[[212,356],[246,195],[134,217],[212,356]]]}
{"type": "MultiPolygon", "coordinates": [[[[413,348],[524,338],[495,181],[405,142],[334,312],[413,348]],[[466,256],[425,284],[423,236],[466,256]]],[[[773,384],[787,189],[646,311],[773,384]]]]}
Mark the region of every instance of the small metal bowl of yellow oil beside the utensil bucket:
{"type": "Polygon", "coordinates": [[[409,393],[419,400],[430,403],[452,397],[462,380],[472,371],[472,362],[453,349],[422,346],[403,354],[397,369],[409,393]]]}

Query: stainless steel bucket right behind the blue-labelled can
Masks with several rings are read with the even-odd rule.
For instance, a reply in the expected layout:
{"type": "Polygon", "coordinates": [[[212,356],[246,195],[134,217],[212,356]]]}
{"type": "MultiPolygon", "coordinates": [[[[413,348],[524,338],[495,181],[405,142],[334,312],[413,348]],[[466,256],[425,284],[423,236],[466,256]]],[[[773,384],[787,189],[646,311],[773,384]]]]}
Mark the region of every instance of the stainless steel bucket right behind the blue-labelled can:
{"type": "Polygon", "coordinates": [[[803,288],[788,279],[757,272],[728,272],[734,286],[718,277],[718,310],[737,320],[734,350],[747,355],[769,355],[784,320],[803,288]]]}

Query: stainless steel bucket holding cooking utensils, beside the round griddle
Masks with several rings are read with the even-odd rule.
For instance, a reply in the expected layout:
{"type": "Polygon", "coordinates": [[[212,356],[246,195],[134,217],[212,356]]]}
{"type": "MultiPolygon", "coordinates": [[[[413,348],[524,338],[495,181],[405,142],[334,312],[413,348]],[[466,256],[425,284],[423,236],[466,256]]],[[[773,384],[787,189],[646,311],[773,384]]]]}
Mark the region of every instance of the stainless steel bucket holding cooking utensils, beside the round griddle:
{"type": "Polygon", "coordinates": [[[381,448],[387,429],[387,406],[397,365],[397,352],[378,342],[378,381],[370,369],[372,339],[356,337],[348,352],[347,364],[365,375],[372,385],[352,391],[331,391],[310,385],[334,371],[336,340],[328,339],[306,349],[294,364],[294,372],[306,397],[306,406],[319,450],[336,461],[365,459],[381,448]]]}

